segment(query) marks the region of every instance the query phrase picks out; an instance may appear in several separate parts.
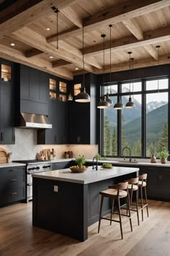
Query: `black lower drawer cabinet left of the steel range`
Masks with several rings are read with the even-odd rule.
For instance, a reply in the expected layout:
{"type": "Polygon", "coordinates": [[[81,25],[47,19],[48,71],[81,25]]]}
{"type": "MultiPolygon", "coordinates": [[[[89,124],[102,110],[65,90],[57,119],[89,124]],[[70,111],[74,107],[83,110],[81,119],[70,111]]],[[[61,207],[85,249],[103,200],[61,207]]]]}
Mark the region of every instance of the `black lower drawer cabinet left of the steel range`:
{"type": "Polygon", "coordinates": [[[0,169],[0,206],[25,200],[25,167],[0,169]]]}

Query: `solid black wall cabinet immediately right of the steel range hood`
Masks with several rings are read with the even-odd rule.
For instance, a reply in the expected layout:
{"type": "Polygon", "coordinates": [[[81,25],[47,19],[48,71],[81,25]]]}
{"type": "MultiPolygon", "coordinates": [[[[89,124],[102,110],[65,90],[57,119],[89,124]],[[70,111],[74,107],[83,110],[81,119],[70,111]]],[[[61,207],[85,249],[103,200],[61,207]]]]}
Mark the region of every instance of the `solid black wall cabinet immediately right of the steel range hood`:
{"type": "Polygon", "coordinates": [[[67,144],[68,143],[68,103],[50,100],[48,103],[48,118],[52,129],[37,131],[37,144],[67,144]]]}

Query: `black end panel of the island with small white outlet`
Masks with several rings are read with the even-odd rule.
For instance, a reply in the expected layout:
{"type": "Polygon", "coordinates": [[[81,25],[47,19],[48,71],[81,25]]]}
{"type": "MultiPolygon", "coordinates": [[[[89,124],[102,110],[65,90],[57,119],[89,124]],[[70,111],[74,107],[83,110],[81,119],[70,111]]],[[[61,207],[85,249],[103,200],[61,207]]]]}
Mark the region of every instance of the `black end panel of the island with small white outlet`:
{"type": "Polygon", "coordinates": [[[86,240],[87,192],[88,185],[33,178],[32,224],[86,240]]]}

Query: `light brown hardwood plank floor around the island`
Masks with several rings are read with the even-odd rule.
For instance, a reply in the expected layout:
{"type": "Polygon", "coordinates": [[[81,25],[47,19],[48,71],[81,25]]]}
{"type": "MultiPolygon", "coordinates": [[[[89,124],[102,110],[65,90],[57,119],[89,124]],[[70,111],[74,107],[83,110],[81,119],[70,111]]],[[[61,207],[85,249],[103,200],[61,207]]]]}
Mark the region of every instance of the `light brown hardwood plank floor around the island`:
{"type": "Polygon", "coordinates": [[[0,255],[97,255],[97,256],[169,256],[170,255],[170,202],[149,201],[149,218],[144,210],[140,226],[133,216],[133,232],[129,222],[120,226],[102,220],[89,227],[89,239],[79,242],[60,234],[32,226],[32,203],[12,205],[0,209],[0,255]]]}

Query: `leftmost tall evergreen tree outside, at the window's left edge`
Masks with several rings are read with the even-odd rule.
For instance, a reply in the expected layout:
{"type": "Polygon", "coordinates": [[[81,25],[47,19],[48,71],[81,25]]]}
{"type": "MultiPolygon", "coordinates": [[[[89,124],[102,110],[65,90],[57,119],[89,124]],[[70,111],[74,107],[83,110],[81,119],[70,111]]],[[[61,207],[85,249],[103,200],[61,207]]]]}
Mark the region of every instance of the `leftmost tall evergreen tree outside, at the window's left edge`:
{"type": "Polygon", "coordinates": [[[111,132],[107,116],[104,116],[104,155],[112,155],[111,132]]]}

